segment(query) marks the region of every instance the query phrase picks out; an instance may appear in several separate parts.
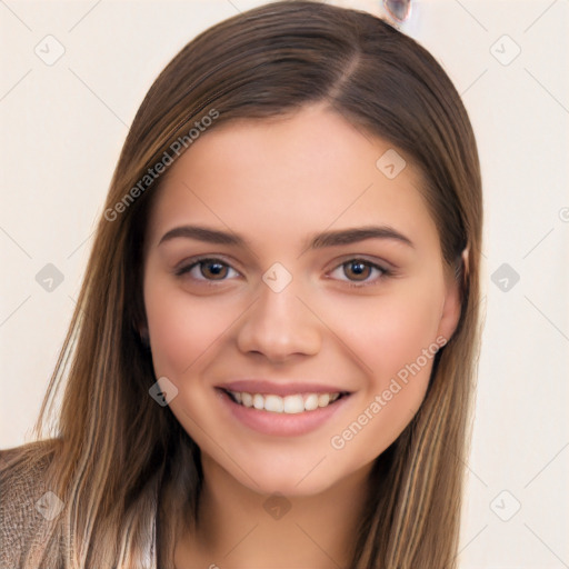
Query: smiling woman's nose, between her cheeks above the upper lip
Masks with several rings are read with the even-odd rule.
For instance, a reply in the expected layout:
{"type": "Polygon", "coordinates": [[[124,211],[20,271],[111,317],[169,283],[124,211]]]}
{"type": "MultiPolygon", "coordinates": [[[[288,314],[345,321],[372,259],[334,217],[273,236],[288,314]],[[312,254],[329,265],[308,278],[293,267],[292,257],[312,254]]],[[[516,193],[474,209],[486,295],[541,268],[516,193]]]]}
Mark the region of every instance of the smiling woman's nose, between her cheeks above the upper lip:
{"type": "Polygon", "coordinates": [[[261,353],[273,362],[287,361],[295,355],[319,352],[320,322],[307,308],[307,302],[297,297],[293,282],[280,292],[260,284],[259,298],[247,311],[238,331],[240,351],[261,353]]]}

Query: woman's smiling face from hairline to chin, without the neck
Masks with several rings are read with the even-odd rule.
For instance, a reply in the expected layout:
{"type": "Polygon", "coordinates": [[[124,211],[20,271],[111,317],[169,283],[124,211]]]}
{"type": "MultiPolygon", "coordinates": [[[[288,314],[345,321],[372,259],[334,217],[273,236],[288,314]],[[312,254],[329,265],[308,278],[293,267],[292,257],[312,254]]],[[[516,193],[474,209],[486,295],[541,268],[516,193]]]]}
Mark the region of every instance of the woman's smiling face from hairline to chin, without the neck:
{"type": "Polygon", "coordinates": [[[206,477],[317,493],[367,471],[417,412],[460,305],[403,158],[319,104],[217,127],[171,166],[144,305],[206,477]]]}

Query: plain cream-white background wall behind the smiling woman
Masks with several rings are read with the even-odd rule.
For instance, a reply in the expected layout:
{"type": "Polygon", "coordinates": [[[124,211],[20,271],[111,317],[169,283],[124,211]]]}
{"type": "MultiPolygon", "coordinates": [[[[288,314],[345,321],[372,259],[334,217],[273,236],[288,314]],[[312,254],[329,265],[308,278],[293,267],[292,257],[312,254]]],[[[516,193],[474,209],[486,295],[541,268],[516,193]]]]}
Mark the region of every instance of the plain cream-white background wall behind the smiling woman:
{"type": "MultiPolygon", "coordinates": [[[[30,439],[146,91],[199,31],[261,3],[0,0],[0,448],[30,439]],[[34,52],[58,43],[51,66],[34,52]],[[47,263],[64,278],[51,292],[47,263]]],[[[462,94],[485,182],[461,569],[569,567],[568,29],[567,0],[422,0],[403,28],[462,94]]]]}

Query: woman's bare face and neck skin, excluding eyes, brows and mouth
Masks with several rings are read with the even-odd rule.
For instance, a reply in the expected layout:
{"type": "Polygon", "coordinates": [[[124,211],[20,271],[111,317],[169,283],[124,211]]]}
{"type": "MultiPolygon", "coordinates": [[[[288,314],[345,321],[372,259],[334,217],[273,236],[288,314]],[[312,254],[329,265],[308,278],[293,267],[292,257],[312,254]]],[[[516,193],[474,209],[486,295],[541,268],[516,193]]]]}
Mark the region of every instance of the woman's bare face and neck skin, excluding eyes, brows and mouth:
{"type": "Polygon", "coordinates": [[[144,262],[148,333],[156,376],[176,385],[170,409],[200,446],[204,472],[200,522],[180,533],[178,568],[348,565],[372,461],[420,407],[432,359],[343,448],[331,438],[438,337],[450,339],[460,315],[420,172],[407,158],[392,180],[376,167],[390,148],[313,104],[211,129],[157,194],[144,262]],[[160,243],[186,224],[240,234],[248,246],[160,243]],[[369,224],[396,229],[412,247],[373,238],[307,249],[316,233],[369,224]],[[202,254],[228,266],[220,280],[211,264],[174,273],[202,254]],[[391,274],[363,266],[362,277],[353,259],[391,274]],[[262,280],[274,262],[292,277],[280,292],[262,280]],[[351,396],[317,430],[276,438],[224,412],[214,386],[246,378],[332,383],[351,396]],[[290,506],[279,520],[263,508],[273,492],[290,506]]]}

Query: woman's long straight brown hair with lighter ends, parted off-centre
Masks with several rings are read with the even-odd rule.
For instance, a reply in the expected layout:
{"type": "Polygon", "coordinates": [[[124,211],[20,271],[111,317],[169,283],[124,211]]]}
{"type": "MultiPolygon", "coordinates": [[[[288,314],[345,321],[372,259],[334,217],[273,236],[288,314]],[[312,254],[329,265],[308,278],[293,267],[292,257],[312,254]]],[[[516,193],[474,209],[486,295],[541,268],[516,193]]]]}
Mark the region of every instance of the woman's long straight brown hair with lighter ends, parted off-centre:
{"type": "Polygon", "coordinates": [[[149,179],[149,170],[174,160],[180,144],[191,149],[196,123],[214,129],[319,101],[421,170],[462,302],[419,411],[376,459],[350,569],[456,567],[480,337],[482,196],[472,128],[450,79],[415,40],[369,13],[309,1],[269,3],[199,34],[134,118],[36,426],[44,440],[30,443],[30,463],[50,459],[49,487],[66,503],[52,539],[40,545],[54,567],[149,567],[144,551],[156,533],[158,567],[171,569],[181,520],[196,519],[199,448],[149,397],[152,355],[139,335],[147,221],[166,178],[149,179]]]}

